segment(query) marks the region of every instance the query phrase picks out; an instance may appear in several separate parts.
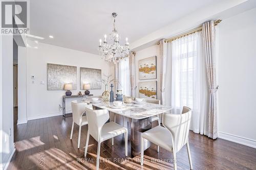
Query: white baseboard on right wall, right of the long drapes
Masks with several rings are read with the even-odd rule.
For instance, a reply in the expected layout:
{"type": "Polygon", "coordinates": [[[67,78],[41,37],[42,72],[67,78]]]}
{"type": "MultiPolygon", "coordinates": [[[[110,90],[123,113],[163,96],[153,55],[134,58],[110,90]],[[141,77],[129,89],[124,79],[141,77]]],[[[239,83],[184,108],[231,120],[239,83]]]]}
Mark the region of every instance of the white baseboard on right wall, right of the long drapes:
{"type": "Polygon", "coordinates": [[[232,142],[236,142],[239,144],[246,145],[248,147],[256,148],[256,140],[237,136],[237,135],[232,135],[224,132],[218,132],[218,137],[221,139],[229,140],[232,142]]]}

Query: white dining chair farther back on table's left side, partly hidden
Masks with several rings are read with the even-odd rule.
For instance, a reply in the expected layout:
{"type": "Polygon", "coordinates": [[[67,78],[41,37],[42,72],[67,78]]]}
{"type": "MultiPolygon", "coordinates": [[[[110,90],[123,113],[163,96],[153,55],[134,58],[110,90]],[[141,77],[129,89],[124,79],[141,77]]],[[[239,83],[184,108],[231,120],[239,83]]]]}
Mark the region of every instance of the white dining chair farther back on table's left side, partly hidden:
{"type": "Polygon", "coordinates": [[[77,101],[71,102],[71,108],[72,108],[72,117],[73,117],[73,123],[72,123],[72,129],[70,134],[70,140],[72,140],[73,130],[74,130],[74,124],[77,124],[79,126],[79,132],[78,132],[78,143],[77,148],[80,148],[80,139],[81,139],[81,127],[83,125],[87,125],[87,117],[82,116],[83,113],[86,111],[87,103],[81,102],[78,103],[77,101]]]}

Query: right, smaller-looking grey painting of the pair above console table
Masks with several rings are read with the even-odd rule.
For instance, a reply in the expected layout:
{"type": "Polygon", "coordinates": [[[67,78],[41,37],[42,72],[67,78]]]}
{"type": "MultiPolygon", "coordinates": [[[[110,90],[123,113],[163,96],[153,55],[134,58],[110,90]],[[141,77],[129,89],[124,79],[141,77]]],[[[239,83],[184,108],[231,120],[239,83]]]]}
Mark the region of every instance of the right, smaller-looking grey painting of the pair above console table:
{"type": "Polygon", "coordinates": [[[80,89],[90,84],[91,89],[101,89],[101,69],[80,67],[80,89]]]}

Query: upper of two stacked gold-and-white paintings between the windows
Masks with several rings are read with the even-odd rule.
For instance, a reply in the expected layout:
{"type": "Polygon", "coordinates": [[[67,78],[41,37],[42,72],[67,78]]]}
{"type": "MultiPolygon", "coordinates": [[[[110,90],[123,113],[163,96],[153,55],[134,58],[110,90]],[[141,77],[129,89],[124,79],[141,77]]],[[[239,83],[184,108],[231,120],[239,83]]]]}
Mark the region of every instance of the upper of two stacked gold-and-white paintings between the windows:
{"type": "Polygon", "coordinates": [[[139,60],[139,80],[157,78],[157,56],[139,60]]]}

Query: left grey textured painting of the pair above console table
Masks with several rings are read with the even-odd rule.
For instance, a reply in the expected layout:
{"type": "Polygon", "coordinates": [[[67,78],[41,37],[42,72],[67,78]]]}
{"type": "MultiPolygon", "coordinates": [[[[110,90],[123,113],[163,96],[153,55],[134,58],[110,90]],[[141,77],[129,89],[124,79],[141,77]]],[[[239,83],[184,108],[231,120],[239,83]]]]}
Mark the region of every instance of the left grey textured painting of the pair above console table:
{"type": "Polygon", "coordinates": [[[68,83],[76,90],[76,71],[76,66],[47,63],[47,90],[63,90],[68,83]]]}

